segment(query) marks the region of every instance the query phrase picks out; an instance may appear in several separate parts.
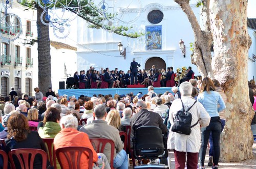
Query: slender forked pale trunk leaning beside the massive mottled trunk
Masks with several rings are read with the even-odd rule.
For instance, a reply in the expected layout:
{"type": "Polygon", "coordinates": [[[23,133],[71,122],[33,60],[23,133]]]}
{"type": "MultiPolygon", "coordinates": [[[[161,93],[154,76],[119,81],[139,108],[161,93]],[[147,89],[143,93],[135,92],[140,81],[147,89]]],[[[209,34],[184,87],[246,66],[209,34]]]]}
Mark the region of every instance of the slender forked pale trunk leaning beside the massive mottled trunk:
{"type": "MultiPolygon", "coordinates": [[[[189,22],[191,23],[192,29],[195,35],[194,43],[194,54],[191,56],[191,63],[197,65],[199,73],[204,77],[213,78],[214,74],[212,73],[211,68],[211,53],[210,46],[212,42],[212,37],[209,29],[209,17],[203,18],[204,30],[201,30],[199,22],[189,5],[189,0],[174,0],[177,4],[180,5],[183,12],[187,15],[189,22]]],[[[205,3],[203,11],[208,13],[208,6],[205,3]]],[[[207,16],[207,15],[205,15],[207,16]]]]}

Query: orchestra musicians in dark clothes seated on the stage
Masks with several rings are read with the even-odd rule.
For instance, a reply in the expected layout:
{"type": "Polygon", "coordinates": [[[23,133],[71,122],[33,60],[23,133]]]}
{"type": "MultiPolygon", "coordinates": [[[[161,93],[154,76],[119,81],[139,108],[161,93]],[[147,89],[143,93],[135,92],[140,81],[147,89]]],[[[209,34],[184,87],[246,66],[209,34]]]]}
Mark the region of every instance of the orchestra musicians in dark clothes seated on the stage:
{"type": "MultiPolygon", "coordinates": [[[[182,83],[184,81],[188,81],[189,79],[194,79],[194,71],[191,70],[191,67],[189,66],[188,69],[186,69],[186,67],[183,66],[183,68],[185,68],[184,76],[182,77],[182,79],[179,79],[177,81],[180,81],[180,83],[182,83]]],[[[145,85],[145,87],[148,87],[159,80],[161,87],[166,87],[166,82],[169,80],[172,80],[173,84],[175,84],[174,78],[171,79],[173,74],[175,76],[180,76],[181,73],[174,73],[173,67],[167,67],[167,69],[157,69],[155,68],[155,65],[153,65],[150,70],[138,69],[137,78],[132,79],[133,76],[131,70],[118,71],[118,68],[115,68],[115,70],[110,70],[108,67],[106,67],[105,69],[101,68],[101,70],[98,71],[91,66],[90,69],[87,70],[87,73],[85,70],[80,70],[79,75],[78,71],[76,71],[73,77],[75,88],[90,88],[90,86],[93,86],[92,83],[96,83],[97,85],[94,88],[103,88],[101,86],[102,81],[108,83],[108,86],[106,86],[107,88],[127,87],[127,85],[130,84],[142,84],[145,85]],[[135,82],[135,80],[137,82],[135,82]]]]}

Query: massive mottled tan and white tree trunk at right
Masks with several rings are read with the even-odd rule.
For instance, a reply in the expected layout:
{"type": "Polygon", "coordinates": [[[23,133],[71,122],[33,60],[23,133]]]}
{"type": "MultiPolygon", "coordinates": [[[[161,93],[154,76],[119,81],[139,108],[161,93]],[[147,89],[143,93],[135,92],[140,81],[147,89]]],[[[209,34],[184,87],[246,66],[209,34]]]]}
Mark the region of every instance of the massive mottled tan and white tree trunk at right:
{"type": "Polygon", "coordinates": [[[226,125],[221,137],[225,162],[252,158],[254,115],[247,82],[248,48],[247,0],[210,0],[211,33],[214,38],[212,66],[215,78],[227,96],[226,125]]]}

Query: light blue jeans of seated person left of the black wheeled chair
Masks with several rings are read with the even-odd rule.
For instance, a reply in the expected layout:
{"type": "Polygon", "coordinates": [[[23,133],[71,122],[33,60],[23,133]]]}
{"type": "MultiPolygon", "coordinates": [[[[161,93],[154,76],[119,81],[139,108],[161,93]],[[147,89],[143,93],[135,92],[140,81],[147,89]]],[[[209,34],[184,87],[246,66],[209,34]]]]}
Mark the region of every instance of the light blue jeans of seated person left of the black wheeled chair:
{"type": "Polygon", "coordinates": [[[117,169],[127,169],[128,168],[128,157],[124,150],[116,153],[116,157],[114,159],[114,168],[117,169]]]}

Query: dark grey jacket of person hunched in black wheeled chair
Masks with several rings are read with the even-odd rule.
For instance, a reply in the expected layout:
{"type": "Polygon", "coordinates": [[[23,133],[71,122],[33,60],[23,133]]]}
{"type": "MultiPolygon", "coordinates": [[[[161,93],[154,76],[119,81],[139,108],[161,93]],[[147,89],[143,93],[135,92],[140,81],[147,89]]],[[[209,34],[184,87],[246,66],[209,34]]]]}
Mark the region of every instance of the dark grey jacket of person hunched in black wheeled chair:
{"type": "Polygon", "coordinates": [[[167,133],[167,127],[163,124],[163,119],[158,113],[142,109],[131,118],[132,132],[141,126],[156,126],[167,133]]]}

